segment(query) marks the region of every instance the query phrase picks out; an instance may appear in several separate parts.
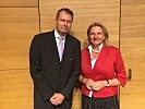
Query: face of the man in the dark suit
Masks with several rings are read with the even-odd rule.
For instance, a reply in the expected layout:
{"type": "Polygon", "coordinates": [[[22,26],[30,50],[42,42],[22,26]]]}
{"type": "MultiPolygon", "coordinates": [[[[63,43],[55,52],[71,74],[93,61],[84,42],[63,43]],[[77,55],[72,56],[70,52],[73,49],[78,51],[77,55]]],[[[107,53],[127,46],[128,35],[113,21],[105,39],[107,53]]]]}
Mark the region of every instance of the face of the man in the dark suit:
{"type": "Polygon", "coordinates": [[[64,36],[70,31],[72,22],[73,17],[69,13],[64,11],[60,12],[58,19],[56,19],[57,32],[64,36]]]}

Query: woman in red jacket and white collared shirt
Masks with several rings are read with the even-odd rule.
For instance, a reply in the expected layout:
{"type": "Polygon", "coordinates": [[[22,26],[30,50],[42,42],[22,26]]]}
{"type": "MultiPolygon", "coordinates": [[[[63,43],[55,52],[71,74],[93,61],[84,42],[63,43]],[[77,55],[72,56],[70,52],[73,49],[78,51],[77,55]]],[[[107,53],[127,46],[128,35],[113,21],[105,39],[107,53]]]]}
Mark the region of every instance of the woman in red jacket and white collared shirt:
{"type": "Polygon", "coordinates": [[[87,29],[89,46],[82,50],[82,109],[119,109],[118,86],[126,83],[119,48],[108,46],[106,27],[93,23],[87,29]]]}

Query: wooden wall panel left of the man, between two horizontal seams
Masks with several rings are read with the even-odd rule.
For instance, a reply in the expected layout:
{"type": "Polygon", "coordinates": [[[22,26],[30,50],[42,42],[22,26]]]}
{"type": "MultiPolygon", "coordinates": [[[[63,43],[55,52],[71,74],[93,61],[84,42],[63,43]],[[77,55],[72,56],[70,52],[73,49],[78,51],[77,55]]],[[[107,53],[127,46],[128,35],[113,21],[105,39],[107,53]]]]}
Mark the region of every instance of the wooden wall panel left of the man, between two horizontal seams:
{"type": "Polygon", "coordinates": [[[0,8],[0,70],[28,69],[28,49],[39,33],[35,8],[0,8]]]}

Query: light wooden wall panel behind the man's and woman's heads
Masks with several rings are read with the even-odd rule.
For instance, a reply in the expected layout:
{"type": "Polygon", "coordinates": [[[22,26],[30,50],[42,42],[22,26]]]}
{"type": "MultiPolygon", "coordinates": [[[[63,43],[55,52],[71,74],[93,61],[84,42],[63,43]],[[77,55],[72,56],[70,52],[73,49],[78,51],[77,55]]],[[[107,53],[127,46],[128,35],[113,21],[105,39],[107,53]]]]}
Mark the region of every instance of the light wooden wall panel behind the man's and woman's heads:
{"type": "MultiPolygon", "coordinates": [[[[60,8],[70,8],[74,12],[74,22],[71,34],[82,41],[82,48],[86,44],[86,29],[93,22],[105,24],[110,34],[110,41],[119,46],[119,16],[120,0],[40,0],[40,27],[41,32],[55,28],[56,12],[60,8]]],[[[81,92],[74,89],[72,109],[81,109],[81,92]]]]}

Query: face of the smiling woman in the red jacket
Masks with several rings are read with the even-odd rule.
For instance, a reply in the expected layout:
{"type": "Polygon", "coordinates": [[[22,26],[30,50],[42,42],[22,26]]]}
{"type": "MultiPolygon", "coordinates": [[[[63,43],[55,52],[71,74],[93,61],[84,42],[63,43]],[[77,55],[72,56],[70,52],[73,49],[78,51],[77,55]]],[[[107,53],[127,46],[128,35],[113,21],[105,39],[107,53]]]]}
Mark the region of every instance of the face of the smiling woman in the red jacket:
{"type": "Polygon", "coordinates": [[[105,39],[102,28],[100,26],[92,27],[88,39],[93,46],[99,46],[105,39]]]}

